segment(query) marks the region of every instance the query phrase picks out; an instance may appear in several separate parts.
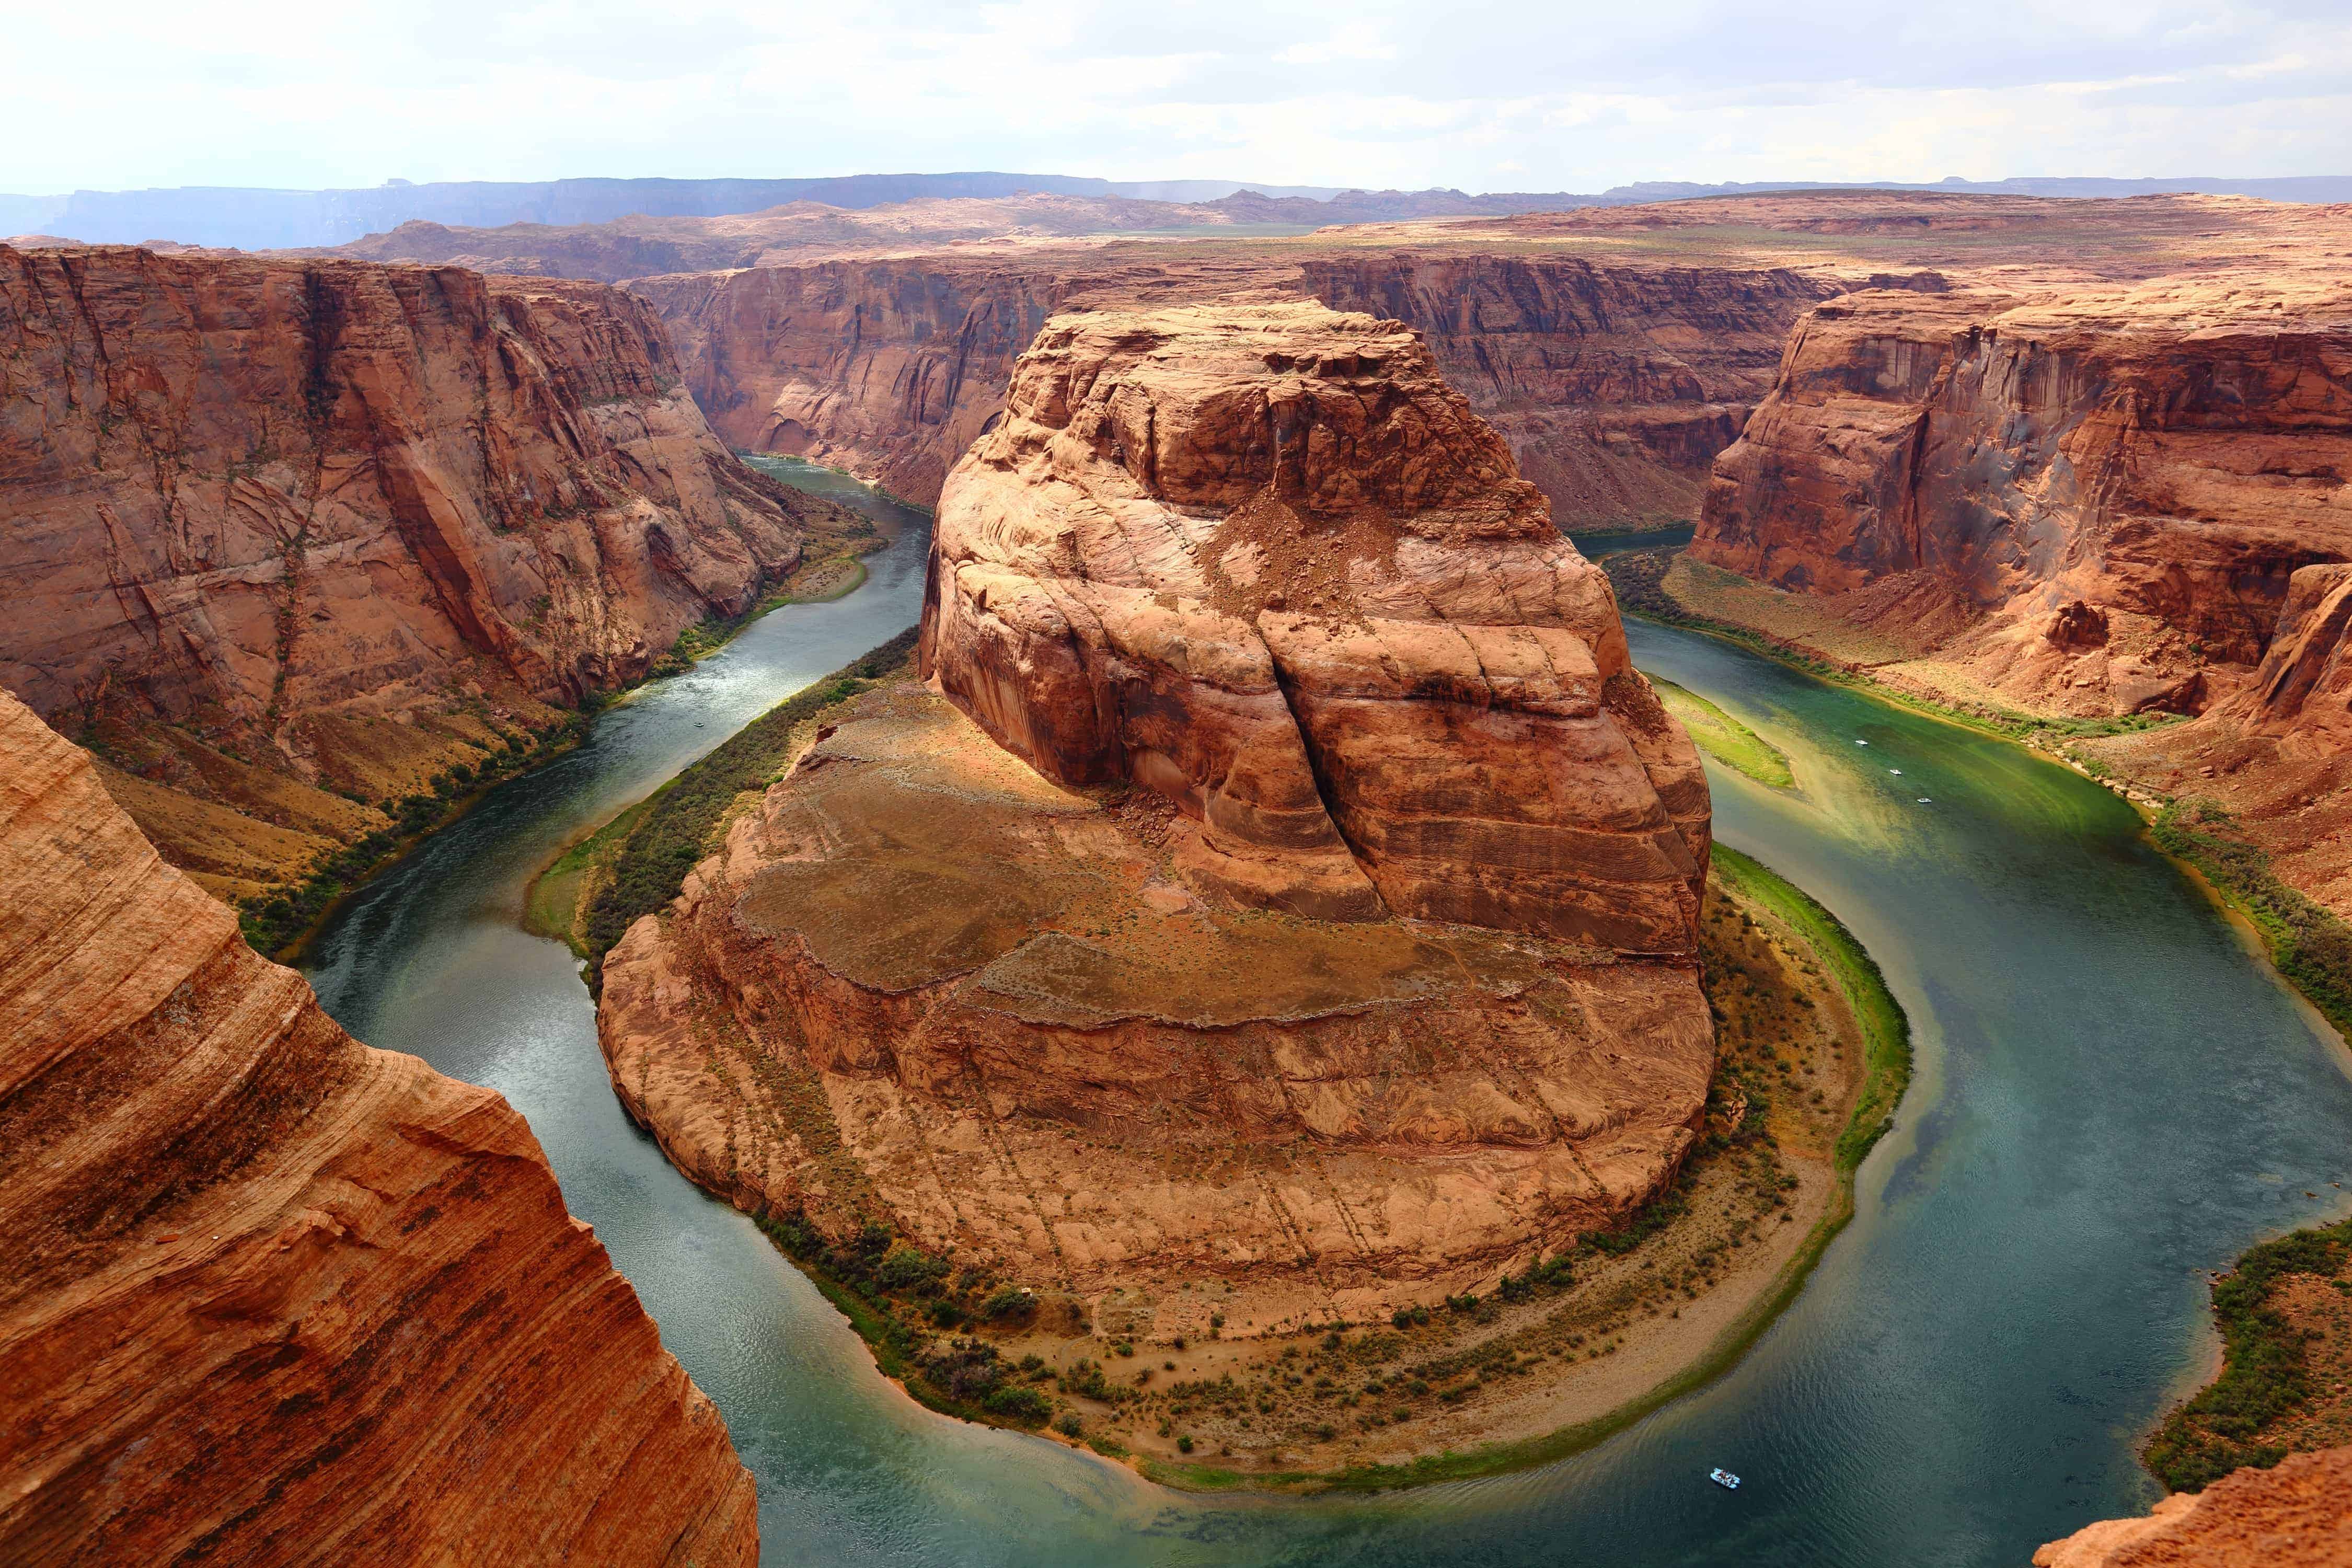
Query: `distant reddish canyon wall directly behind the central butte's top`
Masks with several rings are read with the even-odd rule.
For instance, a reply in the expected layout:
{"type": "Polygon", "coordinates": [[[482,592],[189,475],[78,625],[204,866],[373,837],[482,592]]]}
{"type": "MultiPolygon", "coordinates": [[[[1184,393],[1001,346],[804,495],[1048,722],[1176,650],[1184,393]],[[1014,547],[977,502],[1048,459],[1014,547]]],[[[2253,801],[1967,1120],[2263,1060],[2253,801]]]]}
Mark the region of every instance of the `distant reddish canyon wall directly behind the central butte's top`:
{"type": "Polygon", "coordinates": [[[1790,322],[1837,284],[1788,268],[1583,259],[1324,256],[1277,242],[964,261],[828,261],[633,284],[677,336],[731,444],[936,501],[1061,308],[1319,299],[1402,320],[1496,423],[1564,527],[1689,517],[1764,395],[1790,322]]]}

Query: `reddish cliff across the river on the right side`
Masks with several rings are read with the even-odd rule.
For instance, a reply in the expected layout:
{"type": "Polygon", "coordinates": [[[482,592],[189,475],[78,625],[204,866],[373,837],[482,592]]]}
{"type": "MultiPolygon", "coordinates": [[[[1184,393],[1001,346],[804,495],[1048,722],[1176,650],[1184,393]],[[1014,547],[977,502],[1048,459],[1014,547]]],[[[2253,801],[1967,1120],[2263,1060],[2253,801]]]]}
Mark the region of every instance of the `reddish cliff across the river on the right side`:
{"type": "Polygon", "coordinates": [[[2352,557],[2345,475],[2340,277],[1877,289],[1797,327],[1691,550],[1858,621],[1931,604],[1964,628],[1938,656],[2009,698],[2197,712],[2293,574],[2352,557]]]}

